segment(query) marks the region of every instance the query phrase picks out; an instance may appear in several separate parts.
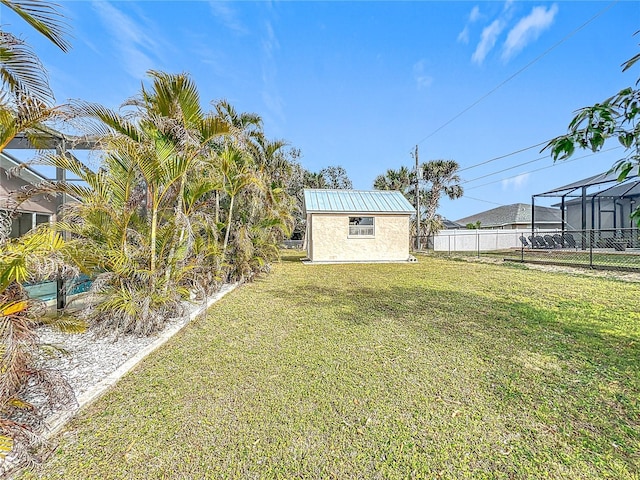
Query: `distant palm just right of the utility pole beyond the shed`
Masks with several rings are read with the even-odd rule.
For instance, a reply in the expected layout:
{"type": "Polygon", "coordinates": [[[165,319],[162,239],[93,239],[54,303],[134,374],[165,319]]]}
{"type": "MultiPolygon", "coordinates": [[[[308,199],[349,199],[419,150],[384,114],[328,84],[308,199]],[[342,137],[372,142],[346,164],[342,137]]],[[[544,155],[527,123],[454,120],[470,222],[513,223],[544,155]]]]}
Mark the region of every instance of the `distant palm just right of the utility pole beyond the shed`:
{"type": "Polygon", "coordinates": [[[463,190],[460,185],[458,170],[460,166],[455,160],[430,160],[422,164],[422,180],[430,186],[426,194],[425,205],[425,235],[430,235],[439,230],[439,221],[436,211],[440,206],[440,198],[446,195],[451,200],[460,198],[463,190]]]}

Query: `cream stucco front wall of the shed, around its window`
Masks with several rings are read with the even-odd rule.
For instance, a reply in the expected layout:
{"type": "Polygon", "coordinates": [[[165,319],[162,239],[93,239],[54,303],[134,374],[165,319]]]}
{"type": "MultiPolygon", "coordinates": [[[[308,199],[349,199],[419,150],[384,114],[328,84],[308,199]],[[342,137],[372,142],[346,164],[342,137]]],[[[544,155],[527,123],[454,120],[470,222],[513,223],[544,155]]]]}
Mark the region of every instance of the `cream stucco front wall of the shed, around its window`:
{"type": "Polygon", "coordinates": [[[407,261],[409,215],[308,215],[307,256],[312,262],[407,261]],[[350,216],[375,218],[374,237],[349,236],[350,216]]]}

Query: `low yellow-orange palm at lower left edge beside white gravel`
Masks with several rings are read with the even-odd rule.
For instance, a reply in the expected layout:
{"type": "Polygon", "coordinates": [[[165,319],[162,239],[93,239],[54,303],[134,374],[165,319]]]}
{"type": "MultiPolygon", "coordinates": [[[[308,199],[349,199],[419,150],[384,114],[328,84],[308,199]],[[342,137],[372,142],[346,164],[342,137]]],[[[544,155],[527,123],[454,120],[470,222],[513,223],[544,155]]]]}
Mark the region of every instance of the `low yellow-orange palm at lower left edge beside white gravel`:
{"type": "MultiPolygon", "coordinates": [[[[62,237],[41,228],[18,239],[0,239],[0,456],[29,458],[43,427],[25,393],[43,387],[49,406],[71,405],[75,399],[66,380],[38,362],[35,327],[44,322],[42,308],[29,299],[23,283],[51,278],[65,267],[58,253],[62,237]]],[[[49,321],[66,331],[82,331],[77,322],[49,321]],[[57,325],[56,325],[57,324],[57,325]]]]}

